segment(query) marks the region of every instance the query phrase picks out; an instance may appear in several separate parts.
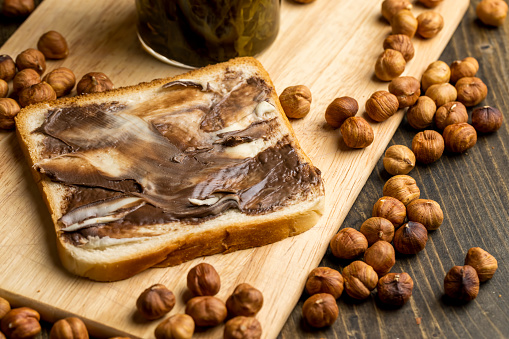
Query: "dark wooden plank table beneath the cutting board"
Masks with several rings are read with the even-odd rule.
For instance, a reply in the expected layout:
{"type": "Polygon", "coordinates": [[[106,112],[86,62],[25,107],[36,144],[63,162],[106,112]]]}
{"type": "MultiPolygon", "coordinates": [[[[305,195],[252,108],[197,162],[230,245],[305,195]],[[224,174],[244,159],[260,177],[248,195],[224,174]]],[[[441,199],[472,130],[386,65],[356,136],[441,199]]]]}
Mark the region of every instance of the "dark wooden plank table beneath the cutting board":
{"type": "MultiPolygon", "coordinates": [[[[392,272],[410,274],[415,283],[413,297],[402,308],[391,309],[378,302],[376,293],[364,301],[345,294],[338,300],[335,324],[314,330],[302,318],[308,297],[303,293],[279,338],[509,338],[509,20],[499,28],[484,26],[475,15],[478,2],[471,2],[440,60],[450,64],[475,57],[480,64],[478,76],[489,88],[483,104],[498,107],[506,113],[505,120],[498,132],[479,135],[468,152],[446,153],[438,162],[418,165],[410,172],[421,197],[437,201],[445,214],[424,251],[397,256],[392,272]],[[444,276],[451,267],[463,265],[468,249],[476,246],[493,254],[499,269],[492,280],[481,284],[475,300],[454,302],[444,296],[444,276]]],[[[0,16],[0,46],[21,23],[0,16]]],[[[391,145],[411,147],[415,134],[403,121],[391,145]]],[[[359,229],[371,217],[389,177],[380,159],[342,227],[359,229]]],[[[328,251],[320,265],[341,269],[345,263],[328,251]]],[[[44,327],[42,337],[47,337],[51,324],[44,327]]]]}

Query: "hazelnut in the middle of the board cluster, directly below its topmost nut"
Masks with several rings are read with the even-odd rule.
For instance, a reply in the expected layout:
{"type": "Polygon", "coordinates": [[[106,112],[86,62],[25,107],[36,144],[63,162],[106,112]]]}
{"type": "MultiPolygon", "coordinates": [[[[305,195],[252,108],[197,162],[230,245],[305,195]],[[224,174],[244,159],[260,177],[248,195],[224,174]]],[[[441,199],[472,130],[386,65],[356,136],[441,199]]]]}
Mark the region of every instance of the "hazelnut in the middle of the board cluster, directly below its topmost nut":
{"type": "Polygon", "coordinates": [[[208,327],[222,323],[228,311],[221,299],[206,295],[190,299],[186,304],[186,314],[193,318],[196,326],[208,327]]]}

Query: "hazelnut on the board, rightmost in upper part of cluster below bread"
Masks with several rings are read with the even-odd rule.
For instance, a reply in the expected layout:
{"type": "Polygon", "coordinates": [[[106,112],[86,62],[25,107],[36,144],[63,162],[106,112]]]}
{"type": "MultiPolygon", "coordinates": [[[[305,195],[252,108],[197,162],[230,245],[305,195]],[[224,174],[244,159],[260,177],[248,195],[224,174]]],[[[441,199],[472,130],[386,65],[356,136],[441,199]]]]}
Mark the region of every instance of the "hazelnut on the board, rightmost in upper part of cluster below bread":
{"type": "Polygon", "coordinates": [[[263,294],[253,286],[242,283],[226,300],[226,308],[233,316],[254,317],[263,306],[263,294]]]}

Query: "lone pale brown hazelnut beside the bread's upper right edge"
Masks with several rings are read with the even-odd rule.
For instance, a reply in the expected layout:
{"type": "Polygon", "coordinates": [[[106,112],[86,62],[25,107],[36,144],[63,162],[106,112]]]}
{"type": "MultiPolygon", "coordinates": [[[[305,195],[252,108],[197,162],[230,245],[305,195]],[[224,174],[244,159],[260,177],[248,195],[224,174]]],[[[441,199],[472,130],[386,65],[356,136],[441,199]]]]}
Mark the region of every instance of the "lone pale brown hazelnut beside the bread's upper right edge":
{"type": "Polygon", "coordinates": [[[287,87],[279,96],[279,101],[287,117],[304,118],[311,108],[311,91],[304,85],[287,87]]]}

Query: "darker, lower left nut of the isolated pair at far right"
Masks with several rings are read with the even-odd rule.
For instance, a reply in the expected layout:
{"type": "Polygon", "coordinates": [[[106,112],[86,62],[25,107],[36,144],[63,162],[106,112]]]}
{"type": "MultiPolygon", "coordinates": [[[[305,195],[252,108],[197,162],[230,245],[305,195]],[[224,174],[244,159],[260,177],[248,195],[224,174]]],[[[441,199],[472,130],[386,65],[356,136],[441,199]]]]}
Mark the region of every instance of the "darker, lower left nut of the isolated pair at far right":
{"type": "Polygon", "coordinates": [[[472,266],[454,266],[444,278],[444,292],[453,299],[470,301],[479,293],[479,277],[472,266]]]}

